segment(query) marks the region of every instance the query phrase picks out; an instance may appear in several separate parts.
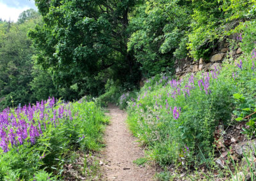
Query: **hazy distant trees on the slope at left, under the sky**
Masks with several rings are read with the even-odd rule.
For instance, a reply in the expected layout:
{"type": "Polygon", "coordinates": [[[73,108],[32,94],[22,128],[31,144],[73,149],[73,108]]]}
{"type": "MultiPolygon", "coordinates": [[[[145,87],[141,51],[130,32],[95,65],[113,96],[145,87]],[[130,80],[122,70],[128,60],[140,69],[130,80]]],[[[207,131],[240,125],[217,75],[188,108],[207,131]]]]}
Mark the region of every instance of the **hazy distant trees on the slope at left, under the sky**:
{"type": "Polygon", "coordinates": [[[36,54],[28,31],[42,25],[42,17],[35,10],[20,14],[17,23],[0,22],[0,110],[6,106],[25,105],[49,96],[76,99],[77,93],[58,89],[49,69],[36,65],[36,54]]]}

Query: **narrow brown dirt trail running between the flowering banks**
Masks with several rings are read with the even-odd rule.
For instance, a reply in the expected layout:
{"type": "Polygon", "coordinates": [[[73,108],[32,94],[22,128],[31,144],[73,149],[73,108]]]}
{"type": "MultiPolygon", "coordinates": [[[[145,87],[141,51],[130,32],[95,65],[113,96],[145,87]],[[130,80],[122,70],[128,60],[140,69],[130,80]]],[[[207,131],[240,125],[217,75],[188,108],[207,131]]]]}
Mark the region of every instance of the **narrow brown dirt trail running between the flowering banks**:
{"type": "Polygon", "coordinates": [[[104,180],[152,180],[154,169],[140,167],[133,163],[143,157],[143,149],[128,131],[127,115],[118,107],[109,105],[111,123],[106,128],[106,149],[104,155],[104,180]]]}

